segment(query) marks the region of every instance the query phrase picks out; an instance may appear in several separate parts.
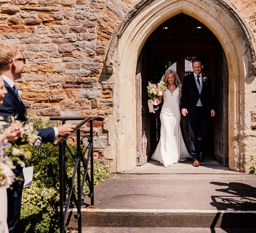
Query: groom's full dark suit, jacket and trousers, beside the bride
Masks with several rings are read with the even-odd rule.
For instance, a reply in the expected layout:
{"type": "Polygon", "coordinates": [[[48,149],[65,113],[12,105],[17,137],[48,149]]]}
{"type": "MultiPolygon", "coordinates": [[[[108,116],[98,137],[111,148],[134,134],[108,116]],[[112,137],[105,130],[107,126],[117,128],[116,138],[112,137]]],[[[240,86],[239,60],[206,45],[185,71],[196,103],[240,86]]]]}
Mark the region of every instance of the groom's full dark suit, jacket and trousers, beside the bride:
{"type": "MultiPolygon", "coordinates": [[[[202,74],[202,77],[204,75],[202,74]]],[[[187,109],[188,114],[186,116],[186,128],[189,133],[191,156],[196,159],[196,127],[200,122],[200,129],[202,134],[200,151],[204,152],[208,137],[208,114],[210,110],[214,110],[214,97],[211,88],[211,79],[206,77],[206,80],[202,79],[202,90],[199,93],[194,73],[187,75],[183,79],[181,106],[180,108],[187,109]],[[198,100],[201,100],[203,107],[196,107],[198,100]]]]}

